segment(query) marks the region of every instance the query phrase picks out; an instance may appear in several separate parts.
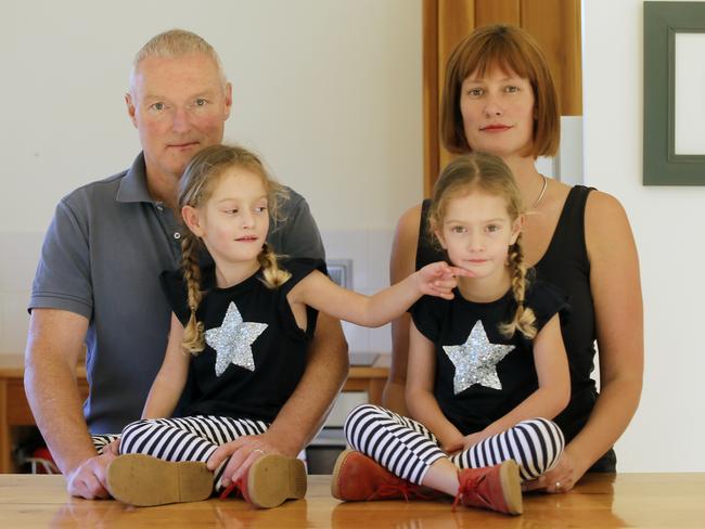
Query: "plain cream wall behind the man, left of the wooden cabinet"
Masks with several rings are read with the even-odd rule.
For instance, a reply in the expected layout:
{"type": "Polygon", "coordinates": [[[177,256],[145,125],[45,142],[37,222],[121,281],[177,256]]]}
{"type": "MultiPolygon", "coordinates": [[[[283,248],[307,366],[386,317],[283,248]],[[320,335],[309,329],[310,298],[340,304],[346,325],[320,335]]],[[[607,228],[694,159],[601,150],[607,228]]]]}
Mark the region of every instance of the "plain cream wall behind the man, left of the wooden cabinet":
{"type": "MultiPolygon", "coordinates": [[[[399,215],[422,195],[420,0],[27,0],[0,16],[0,352],[24,349],[25,306],[56,201],[126,168],[137,132],[123,94],[132,56],[183,27],[233,82],[226,139],[304,194],[355,287],[386,281],[399,215]],[[346,238],[347,237],[347,238],[346,238]]],[[[386,334],[358,333],[361,348],[386,334]]]]}

